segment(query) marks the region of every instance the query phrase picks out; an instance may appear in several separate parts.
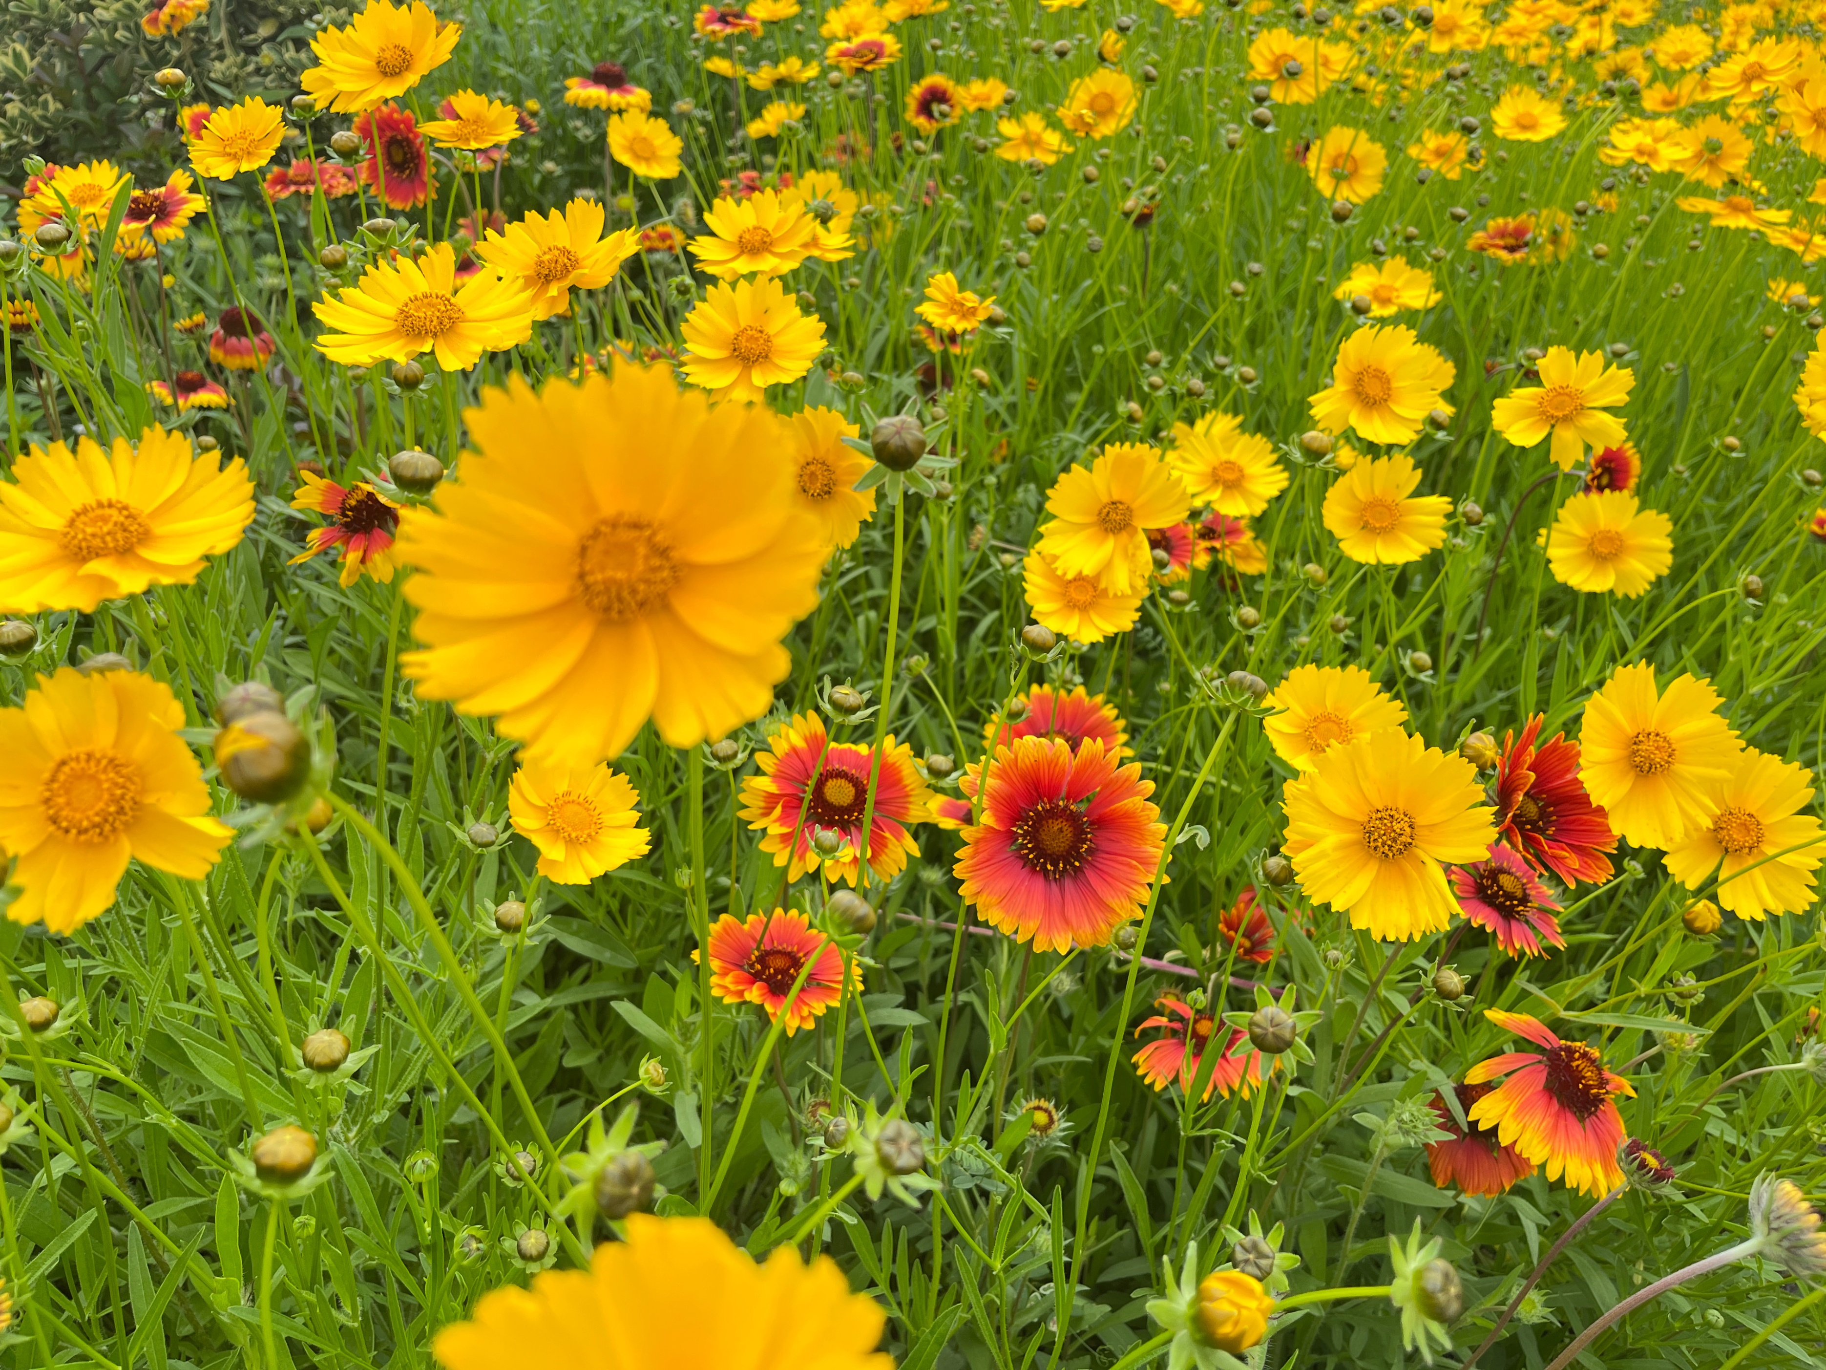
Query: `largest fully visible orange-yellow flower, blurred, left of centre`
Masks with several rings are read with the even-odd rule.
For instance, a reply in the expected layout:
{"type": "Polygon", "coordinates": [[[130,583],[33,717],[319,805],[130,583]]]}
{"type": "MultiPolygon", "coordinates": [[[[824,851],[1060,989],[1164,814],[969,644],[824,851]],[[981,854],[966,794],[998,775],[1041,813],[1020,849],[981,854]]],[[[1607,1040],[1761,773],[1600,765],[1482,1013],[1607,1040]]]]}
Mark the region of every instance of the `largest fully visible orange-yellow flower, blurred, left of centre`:
{"type": "Polygon", "coordinates": [[[420,694],[590,762],[648,716],[688,747],[767,711],[825,557],[782,418],[617,362],[539,393],[515,376],[467,427],[436,511],[400,524],[420,694]]]}

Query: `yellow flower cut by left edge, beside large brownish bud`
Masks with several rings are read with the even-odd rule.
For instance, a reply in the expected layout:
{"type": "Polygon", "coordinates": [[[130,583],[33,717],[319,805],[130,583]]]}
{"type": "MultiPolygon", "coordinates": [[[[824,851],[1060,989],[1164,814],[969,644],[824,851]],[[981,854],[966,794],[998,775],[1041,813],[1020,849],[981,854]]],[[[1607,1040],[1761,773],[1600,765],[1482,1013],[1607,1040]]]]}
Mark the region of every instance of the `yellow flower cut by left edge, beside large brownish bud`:
{"type": "Polygon", "coordinates": [[[234,831],[208,817],[203,769],[168,685],[133,670],[38,676],[0,709],[0,851],[18,857],[13,922],[75,932],[106,912],[128,860],[197,880],[234,831]]]}

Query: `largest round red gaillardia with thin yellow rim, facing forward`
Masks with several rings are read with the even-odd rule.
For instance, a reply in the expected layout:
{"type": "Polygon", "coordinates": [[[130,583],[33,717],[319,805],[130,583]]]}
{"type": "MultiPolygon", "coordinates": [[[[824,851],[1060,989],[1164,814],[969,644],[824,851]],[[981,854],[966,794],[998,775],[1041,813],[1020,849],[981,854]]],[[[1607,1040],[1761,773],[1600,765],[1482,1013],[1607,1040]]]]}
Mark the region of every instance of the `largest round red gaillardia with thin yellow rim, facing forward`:
{"type": "Polygon", "coordinates": [[[1152,793],[1139,765],[1118,765],[1096,740],[997,747],[982,820],[957,857],[959,893],[1035,952],[1105,944],[1141,912],[1165,849],[1152,793]]]}

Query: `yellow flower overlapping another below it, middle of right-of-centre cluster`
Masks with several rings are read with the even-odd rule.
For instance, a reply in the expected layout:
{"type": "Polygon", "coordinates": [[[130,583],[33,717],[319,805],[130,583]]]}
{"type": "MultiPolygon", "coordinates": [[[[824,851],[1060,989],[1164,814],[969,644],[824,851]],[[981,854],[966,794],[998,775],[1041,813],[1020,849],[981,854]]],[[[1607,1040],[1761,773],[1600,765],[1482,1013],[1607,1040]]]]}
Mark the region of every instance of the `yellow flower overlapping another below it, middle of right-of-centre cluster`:
{"type": "Polygon", "coordinates": [[[1154,570],[1150,528],[1183,522],[1185,482],[1158,448],[1112,442],[1090,466],[1074,466],[1046,493],[1039,550],[1061,575],[1096,577],[1112,595],[1139,595],[1154,570]]]}

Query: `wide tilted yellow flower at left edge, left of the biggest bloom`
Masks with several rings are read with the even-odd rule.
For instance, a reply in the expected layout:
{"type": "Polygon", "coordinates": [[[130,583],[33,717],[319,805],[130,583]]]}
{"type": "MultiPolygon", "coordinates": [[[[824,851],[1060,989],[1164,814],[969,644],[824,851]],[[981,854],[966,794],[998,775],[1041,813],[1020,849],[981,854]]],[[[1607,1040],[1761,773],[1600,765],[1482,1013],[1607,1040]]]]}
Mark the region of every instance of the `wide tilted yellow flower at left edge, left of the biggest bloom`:
{"type": "Polygon", "coordinates": [[[236,457],[190,455],[190,437],[148,427],[104,449],[79,438],[33,448],[0,484],[0,612],[75,608],[153,585],[190,585],[254,521],[254,482],[236,457]]]}

